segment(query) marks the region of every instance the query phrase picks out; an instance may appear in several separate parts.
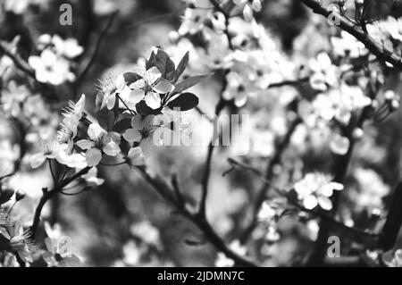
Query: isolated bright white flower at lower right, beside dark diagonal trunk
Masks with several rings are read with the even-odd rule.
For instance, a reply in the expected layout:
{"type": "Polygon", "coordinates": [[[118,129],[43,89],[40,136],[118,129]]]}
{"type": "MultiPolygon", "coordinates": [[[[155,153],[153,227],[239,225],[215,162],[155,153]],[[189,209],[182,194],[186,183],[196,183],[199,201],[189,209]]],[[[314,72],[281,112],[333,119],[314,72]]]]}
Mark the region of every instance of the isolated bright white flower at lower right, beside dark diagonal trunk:
{"type": "Polygon", "coordinates": [[[330,197],[333,190],[342,190],[343,185],[331,182],[331,178],[322,173],[307,173],[302,180],[295,183],[294,189],[306,209],[311,210],[320,205],[324,210],[331,210],[330,197]]]}

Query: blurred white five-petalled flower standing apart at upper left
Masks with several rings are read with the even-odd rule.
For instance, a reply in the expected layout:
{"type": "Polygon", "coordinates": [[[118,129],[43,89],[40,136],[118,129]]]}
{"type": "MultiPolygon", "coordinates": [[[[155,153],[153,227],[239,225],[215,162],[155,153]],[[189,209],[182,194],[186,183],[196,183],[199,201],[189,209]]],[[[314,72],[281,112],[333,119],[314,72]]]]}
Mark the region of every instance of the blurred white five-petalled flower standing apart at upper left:
{"type": "Polygon", "coordinates": [[[45,49],[40,56],[29,56],[28,62],[39,82],[60,85],[66,80],[74,80],[70,64],[50,49],[45,49]]]}

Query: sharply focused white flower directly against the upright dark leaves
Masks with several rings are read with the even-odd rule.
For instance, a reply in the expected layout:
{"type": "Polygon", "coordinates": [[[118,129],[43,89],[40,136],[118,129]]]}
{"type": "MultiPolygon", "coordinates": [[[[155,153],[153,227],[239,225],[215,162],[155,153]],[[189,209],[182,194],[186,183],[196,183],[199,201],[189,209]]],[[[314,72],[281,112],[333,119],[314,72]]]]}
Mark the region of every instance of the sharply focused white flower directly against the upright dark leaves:
{"type": "Polygon", "coordinates": [[[138,61],[137,72],[142,79],[131,83],[130,89],[136,95],[144,95],[145,102],[150,108],[159,108],[161,106],[161,96],[159,94],[172,92],[174,86],[171,82],[162,78],[161,72],[155,66],[147,70],[145,61],[142,59],[138,61]]]}

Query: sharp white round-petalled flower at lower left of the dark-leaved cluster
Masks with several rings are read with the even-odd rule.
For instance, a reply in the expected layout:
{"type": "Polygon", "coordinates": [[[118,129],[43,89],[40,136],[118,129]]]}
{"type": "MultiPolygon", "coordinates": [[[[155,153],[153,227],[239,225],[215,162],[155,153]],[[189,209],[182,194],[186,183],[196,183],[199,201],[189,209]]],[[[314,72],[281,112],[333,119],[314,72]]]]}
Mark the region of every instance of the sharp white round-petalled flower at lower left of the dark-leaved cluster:
{"type": "Polygon", "coordinates": [[[89,139],[81,139],[76,145],[86,149],[88,166],[96,166],[102,160],[102,153],[115,156],[120,153],[120,135],[116,132],[107,132],[97,123],[91,123],[88,127],[89,139]]]}

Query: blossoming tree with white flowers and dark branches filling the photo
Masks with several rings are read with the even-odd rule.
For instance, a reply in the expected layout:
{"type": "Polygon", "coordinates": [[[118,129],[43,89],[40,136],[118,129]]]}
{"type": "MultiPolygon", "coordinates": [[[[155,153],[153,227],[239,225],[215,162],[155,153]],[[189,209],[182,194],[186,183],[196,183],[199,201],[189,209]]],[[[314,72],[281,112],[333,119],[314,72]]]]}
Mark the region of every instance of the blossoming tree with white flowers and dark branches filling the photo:
{"type": "MultiPolygon", "coordinates": [[[[186,0],[168,44],[116,63],[96,81],[88,73],[124,14],[116,4],[85,6],[107,18],[91,47],[55,33],[34,37],[20,25],[23,13],[46,1],[2,2],[0,264],[85,264],[54,219],[54,201],[90,196],[112,180],[105,172],[124,169],[192,225],[182,247],[214,247],[205,264],[400,266],[401,139],[393,113],[401,5],[289,2],[305,22],[287,48],[264,21],[264,7],[275,3],[265,2],[186,0]],[[96,85],[94,96],[80,92],[86,81],[96,85]],[[246,116],[238,126],[221,120],[239,114],[246,116]],[[205,147],[196,146],[205,137],[205,147]],[[206,152],[198,177],[180,182],[186,172],[175,163],[197,163],[197,155],[184,155],[188,148],[206,152]],[[183,155],[166,158],[175,150],[183,155]],[[43,183],[40,197],[29,195],[24,175],[43,183]],[[218,203],[217,180],[232,189],[218,203]],[[219,220],[214,207],[224,200],[230,211],[219,220]],[[49,204],[53,214],[44,213],[49,204]],[[297,248],[286,249],[286,259],[290,240],[297,248]]],[[[133,222],[121,257],[109,264],[173,262],[161,228],[133,222]]]]}

